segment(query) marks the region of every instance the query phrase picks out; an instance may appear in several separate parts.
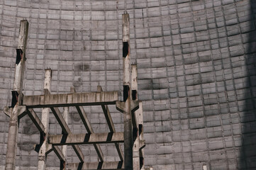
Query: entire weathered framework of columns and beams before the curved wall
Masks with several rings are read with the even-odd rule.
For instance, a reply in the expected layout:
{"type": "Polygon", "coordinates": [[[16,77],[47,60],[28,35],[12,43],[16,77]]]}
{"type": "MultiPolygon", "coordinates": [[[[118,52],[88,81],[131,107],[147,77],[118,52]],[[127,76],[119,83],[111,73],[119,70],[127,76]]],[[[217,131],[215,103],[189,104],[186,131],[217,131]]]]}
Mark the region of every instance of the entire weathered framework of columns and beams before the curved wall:
{"type": "MultiPolygon", "coordinates": [[[[77,93],[73,87],[69,94],[51,94],[51,69],[45,69],[45,81],[42,95],[24,96],[23,74],[26,64],[26,41],[28,37],[28,21],[21,21],[18,48],[16,50],[16,69],[12,92],[11,106],[4,108],[10,117],[9,135],[6,152],[6,170],[15,169],[18,140],[18,122],[28,115],[40,132],[40,143],[35,146],[38,152],[38,169],[46,168],[47,155],[55,152],[60,159],[60,169],[145,169],[143,139],[143,108],[138,100],[137,66],[130,64],[130,19],[128,13],[123,14],[123,101],[118,101],[118,91],[97,91],[77,93]],[[108,105],[116,105],[123,113],[123,132],[116,132],[108,110],[108,105]],[[108,124],[109,132],[95,133],[87,118],[83,106],[101,106],[108,124]],[[63,113],[60,112],[63,108],[63,113]],[[85,134],[73,134],[68,126],[69,107],[74,107],[87,130],[85,134]],[[42,118],[33,110],[42,109],[42,118]],[[55,115],[62,128],[62,134],[49,134],[49,114],[55,115]],[[113,143],[118,152],[118,162],[106,162],[99,144],[113,143]],[[124,143],[122,151],[120,143],[124,143]],[[61,149],[58,146],[64,146],[61,149]],[[71,145],[79,158],[79,162],[67,162],[67,145],[71,145]],[[84,154],[79,145],[93,145],[99,162],[84,162],[84,154]]],[[[152,168],[150,168],[152,169],[152,168]]]]}

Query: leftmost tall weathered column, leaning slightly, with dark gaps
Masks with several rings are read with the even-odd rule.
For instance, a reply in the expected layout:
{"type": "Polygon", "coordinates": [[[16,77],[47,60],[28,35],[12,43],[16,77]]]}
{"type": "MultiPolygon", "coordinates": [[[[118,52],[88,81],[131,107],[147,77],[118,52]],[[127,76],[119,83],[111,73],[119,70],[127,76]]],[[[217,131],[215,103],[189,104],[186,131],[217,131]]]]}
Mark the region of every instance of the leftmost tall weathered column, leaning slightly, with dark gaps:
{"type": "Polygon", "coordinates": [[[17,152],[17,140],[18,140],[18,115],[24,112],[22,103],[22,89],[23,89],[23,74],[26,62],[26,41],[28,38],[28,21],[23,20],[20,23],[20,31],[18,35],[18,49],[16,50],[16,67],[15,77],[13,84],[13,99],[11,106],[11,114],[9,121],[9,133],[6,152],[6,170],[15,169],[15,159],[17,152]]]}

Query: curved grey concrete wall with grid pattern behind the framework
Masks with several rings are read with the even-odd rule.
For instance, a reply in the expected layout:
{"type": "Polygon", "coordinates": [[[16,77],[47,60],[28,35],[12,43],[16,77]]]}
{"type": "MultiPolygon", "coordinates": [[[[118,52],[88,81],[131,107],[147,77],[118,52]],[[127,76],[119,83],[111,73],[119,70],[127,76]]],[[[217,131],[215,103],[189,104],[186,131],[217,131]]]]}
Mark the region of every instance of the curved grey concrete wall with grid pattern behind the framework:
{"type": "MultiPolygon", "coordinates": [[[[0,166],[6,164],[9,118],[20,21],[30,23],[25,95],[43,94],[52,69],[52,94],[123,89],[122,14],[130,14],[130,60],[138,64],[143,101],[145,165],[154,169],[256,169],[255,1],[0,0],[0,166]]],[[[121,100],[121,97],[119,98],[121,100]]],[[[109,106],[117,132],[123,115],[109,106]]],[[[41,117],[41,109],[35,109],[41,117]]],[[[63,112],[63,109],[60,108],[63,112]]],[[[94,132],[108,132],[101,106],[84,106],[94,132]]],[[[85,133],[75,108],[69,128],[85,133]]],[[[61,134],[50,113],[50,134],[61,134]]],[[[21,119],[16,166],[35,169],[39,132],[21,119]]],[[[81,147],[86,162],[98,157],[81,147]]],[[[115,145],[101,145],[118,161],[115,145]]],[[[67,162],[79,162],[67,147],[67,162]]],[[[60,162],[52,152],[47,166],[60,162]]]]}

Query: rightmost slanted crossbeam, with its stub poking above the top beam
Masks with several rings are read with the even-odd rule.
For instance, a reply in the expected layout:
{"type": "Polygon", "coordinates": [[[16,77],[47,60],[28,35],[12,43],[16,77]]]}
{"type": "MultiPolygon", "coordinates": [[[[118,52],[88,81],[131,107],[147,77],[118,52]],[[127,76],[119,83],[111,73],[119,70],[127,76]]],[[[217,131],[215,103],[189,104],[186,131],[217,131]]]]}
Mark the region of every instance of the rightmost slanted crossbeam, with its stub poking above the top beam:
{"type": "MultiPolygon", "coordinates": [[[[101,86],[97,86],[97,91],[98,92],[102,91],[101,86]]],[[[110,132],[116,132],[115,126],[113,125],[113,120],[111,118],[111,114],[110,114],[109,109],[108,109],[108,106],[101,105],[101,108],[104,112],[104,115],[105,115],[105,118],[106,118],[106,123],[108,123],[108,128],[109,128],[110,132]]],[[[122,152],[122,149],[121,149],[121,145],[118,142],[116,142],[115,146],[116,146],[116,150],[118,152],[118,156],[119,156],[120,160],[123,161],[123,152],[122,152]]]]}

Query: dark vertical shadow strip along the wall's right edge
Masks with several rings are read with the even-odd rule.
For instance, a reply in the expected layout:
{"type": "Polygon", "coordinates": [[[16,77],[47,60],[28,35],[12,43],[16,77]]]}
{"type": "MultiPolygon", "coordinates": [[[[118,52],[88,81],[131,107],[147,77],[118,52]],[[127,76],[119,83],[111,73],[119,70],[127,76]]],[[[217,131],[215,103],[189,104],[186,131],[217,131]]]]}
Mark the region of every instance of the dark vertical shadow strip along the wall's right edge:
{"type": "MultiPolygon", "coordinates": [[[[242,147],[238,169],[256,169],[256,1],[250,0],[249,44],[245,49],[247,67],[247,89],[244,94],[245,105],[240,111],[242,124],[242,147]]],[[[243,24],[243,23],[241,23],[243,24]]]]}

